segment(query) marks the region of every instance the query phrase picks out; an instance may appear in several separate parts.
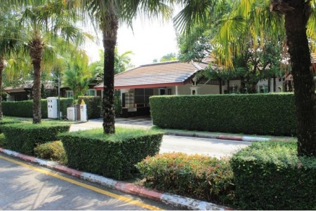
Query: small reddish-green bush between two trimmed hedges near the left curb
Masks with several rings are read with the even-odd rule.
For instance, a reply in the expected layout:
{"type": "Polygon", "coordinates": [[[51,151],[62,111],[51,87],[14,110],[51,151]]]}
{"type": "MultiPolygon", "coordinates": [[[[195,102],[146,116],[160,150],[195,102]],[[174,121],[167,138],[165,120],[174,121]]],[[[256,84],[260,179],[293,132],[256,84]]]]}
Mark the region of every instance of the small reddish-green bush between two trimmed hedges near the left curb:
{"type": "Polygon", "coordinates": [[[34,148],[34,155],[39,158],[57,161],[63,165],[67,164],[67,156],[61,141],[39,144],[34,148]]]}

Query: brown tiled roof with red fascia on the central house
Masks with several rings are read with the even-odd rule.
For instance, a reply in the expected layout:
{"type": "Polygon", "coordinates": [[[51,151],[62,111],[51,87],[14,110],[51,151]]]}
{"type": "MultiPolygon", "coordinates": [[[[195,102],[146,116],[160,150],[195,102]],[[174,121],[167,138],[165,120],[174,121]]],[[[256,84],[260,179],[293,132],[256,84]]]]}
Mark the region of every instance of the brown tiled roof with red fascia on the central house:
{"type": "MultiPolygon", "coordinates": [[[[204,64],[186,62],[160,62],[146,64],[114,76],[114,88],[149,88],[178,86],[190,81],[191,77],[204,68],[204,64]]],[[[103,89],[103,83],[95,86],[103,89]]]]}

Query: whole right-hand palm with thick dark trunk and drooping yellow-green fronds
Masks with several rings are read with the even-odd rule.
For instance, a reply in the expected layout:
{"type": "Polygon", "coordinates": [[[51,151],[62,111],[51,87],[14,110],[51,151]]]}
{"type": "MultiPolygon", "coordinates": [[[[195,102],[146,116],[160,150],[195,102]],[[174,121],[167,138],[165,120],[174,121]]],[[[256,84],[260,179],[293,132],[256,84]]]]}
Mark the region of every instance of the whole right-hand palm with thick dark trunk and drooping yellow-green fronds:
{"type": "MultiPolygon", "coordinates": [[[[230,4],[232,1],[185,1],[183,11],[176,17],[175,23],[186,32],[197,26],[207,27],[216,20],[212,15],[220,12],[220,4],[230,4]],[[201,6],[201,5],[204,5],[201,6]]],[[[232,66],[232,55],[238,53],[244,45],[240,32],[250,32],[254,46],[257,40],[270,40],[276,44],[285,40],[291,57],[291,69],[294,76],[294,95],[296,99],[296,116],[298,122],[298,155],[316,156],[316,95],[315,82],[310,69],[310,51],[308,36],[315,41],[315,0],[241,0],[230,4],[228,14],[222,16],[218,22],[218,36],[216,41],[220,63],[232,66]],[[312,2],[312,6],[310,6],[312,2]],[[275,13],[270,13],[270,8],[275,13]],[[281,15],[283,14],[284,18],[281,15]],[[312,18],[310,18],[312,15],[312,18]],[[308,21],[310,18],[310,21],[308,21]],[[285,27],[282,27],[282,26],[285,27]],[[285,29],[285,32],[284,32],[285,29]]],[[[315,49],[315,42],[310,46],[315,49]]]]}

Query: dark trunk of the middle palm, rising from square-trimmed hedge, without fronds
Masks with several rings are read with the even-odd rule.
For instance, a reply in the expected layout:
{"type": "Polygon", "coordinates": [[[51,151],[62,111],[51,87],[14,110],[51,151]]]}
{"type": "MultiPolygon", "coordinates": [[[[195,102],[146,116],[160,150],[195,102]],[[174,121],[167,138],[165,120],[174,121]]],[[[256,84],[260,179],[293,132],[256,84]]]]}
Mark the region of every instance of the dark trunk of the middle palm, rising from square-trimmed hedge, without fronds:
{"type": "Polygon", "coordinates": [[[119,22],[114,12],[105,17],[103,27],[104,87],[103,87],[103,132],[115,132],[114,113],[114,49],[117,44],[119,22]]]}

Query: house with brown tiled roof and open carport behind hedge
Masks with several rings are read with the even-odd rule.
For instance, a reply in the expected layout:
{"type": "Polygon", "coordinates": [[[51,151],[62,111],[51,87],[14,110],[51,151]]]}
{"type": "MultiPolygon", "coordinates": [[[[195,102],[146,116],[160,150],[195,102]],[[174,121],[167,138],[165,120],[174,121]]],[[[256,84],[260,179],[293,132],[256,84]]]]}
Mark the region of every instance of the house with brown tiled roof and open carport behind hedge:
{"type": "MultiPolygon", "coordinates": [[[[116,74],[114,89],[121,90],[123,116],[150,114],[152,95],[219,94],[240,86],[238,79],[227,83],[198,76],[207,65],[206,62],[159,62],[116,74]]],[[[98,95],[102,95],[103,86],[103,83],[95,86],[98,95]]]]}

